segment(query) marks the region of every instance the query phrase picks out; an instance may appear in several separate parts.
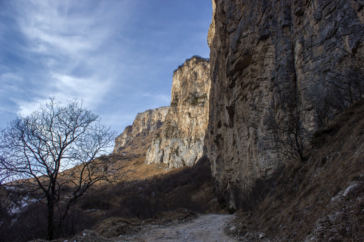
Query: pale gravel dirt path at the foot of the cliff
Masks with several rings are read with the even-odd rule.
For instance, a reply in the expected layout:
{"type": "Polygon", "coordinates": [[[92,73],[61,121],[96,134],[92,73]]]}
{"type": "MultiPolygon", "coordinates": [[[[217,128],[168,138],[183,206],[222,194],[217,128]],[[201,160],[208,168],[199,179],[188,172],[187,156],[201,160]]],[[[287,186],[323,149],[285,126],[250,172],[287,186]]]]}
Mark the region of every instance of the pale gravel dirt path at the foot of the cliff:
{"type": "Polygon", "coordinates": [[[207,214],[190,222],[172,225],[167,228],[156,228],[138,235],[131,236],[125,241],[134,242],[236,242],[223,231],[233,215],[207,214]]]}

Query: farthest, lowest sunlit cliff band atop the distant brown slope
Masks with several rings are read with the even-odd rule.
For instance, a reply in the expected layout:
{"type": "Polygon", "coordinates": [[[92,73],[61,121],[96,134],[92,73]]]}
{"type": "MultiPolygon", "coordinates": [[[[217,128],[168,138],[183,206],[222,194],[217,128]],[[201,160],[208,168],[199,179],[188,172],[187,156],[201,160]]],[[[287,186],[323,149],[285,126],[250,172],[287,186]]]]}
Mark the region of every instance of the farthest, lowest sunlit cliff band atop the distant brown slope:
{"type": "Polygon", "coordinates": [[[146,137],[158,130],[167,115],[169,107],[149,109],[138,113],[132,125],[125,128],[124,132],[115,138],[113,153],[119,153],[125,146],[131,145],[136,137],[146,137]]]}

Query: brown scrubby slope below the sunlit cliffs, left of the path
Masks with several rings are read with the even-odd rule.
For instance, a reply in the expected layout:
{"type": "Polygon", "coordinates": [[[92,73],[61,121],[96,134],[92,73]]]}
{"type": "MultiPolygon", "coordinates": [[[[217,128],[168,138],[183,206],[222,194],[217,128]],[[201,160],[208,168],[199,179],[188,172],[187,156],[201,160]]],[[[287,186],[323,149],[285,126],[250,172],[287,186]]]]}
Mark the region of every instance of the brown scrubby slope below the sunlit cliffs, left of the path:
{"type": "MultiPolygon", "coordinates": [[[[89,237],[89,241],[101,237],[106,239],[111,235],[101,233],[100,226],[115,225],[112,229],[115,233],[135,233],[140,229],[138,224],[142,221],[145,221],[144,226],[149,223],[187,220],[195,214],[193,211],[210,212],[210,209],[217,207],[210,165],[204,160],[197,166],[169,172],[163,169],[163,164],[146,165],[145,153],[149,146],[145,143],[151,142],[149,138],[137,137],[133,142],[134,148],[128,146],[120,154],[103,157],[116,161],[113,169],[125,174],[126,183],[111,187],[101,182],[84,194],[70,211],[62,238],[70,238],[98,225],[87,232],[86,237],[89,237]]],[[[27,241],[39,237],[37,227],[45,226],[39,223],[44,220],[39,217],[43,214],[42,210],[44,207],[39,205],[24,208],[16,221],[5,230],[2,238],[5,241],[27,241]],[[20,229],[21,235],[16,233],[20,229]]],[[[80,236],[79,239],[87,241],[86,237],[80,236]]]]}

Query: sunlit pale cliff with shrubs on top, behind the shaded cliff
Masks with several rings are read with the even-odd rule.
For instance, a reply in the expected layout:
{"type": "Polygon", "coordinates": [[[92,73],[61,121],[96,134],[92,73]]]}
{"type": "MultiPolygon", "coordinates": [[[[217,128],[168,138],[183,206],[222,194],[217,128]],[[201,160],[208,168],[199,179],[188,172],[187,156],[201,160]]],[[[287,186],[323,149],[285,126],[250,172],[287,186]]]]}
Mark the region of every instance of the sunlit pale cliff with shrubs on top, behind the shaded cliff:
{"type": "Polygon", "coordinates": [[[145,162],[167,169],[191,166],[202,157],[209,112],[209,62],[193,57],[175,70],[171,106],[154,135],[145,162]]]}

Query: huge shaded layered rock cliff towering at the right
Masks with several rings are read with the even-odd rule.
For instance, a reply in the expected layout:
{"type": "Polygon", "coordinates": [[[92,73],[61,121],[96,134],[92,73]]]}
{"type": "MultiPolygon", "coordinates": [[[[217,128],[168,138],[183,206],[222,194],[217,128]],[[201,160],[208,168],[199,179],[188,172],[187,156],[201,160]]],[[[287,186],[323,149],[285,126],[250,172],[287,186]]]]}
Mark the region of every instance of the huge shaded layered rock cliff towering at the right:
{"type": "MultiPolygon", "coordinates": [[[[218,186],[264,177],[279,161],[268,119],[310,100],[362,49],[363,1],[214,0],[204,150],[218,186]],[[360,2],[360,3],[359,3],[360,2]]],[[[308,118],[307,132],[315,130],[308,118]]]]}

